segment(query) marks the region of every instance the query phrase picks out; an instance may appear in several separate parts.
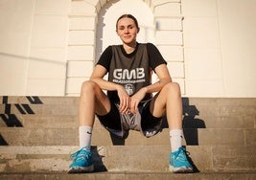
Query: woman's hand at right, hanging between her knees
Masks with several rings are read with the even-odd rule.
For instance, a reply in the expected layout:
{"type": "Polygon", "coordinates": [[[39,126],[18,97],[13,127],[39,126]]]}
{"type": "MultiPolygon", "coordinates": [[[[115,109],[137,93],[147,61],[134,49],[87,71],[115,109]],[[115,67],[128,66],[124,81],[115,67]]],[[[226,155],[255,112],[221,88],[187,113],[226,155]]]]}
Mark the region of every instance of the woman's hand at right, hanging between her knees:
{"type": "Polygon", "coordinates": [[[136,114],[138,111],[139,102],[142,101],[147,93],[146,88],[141,88],[137,93],[135,93],[129,102],[129,110],[132,114],[136,114]]]}

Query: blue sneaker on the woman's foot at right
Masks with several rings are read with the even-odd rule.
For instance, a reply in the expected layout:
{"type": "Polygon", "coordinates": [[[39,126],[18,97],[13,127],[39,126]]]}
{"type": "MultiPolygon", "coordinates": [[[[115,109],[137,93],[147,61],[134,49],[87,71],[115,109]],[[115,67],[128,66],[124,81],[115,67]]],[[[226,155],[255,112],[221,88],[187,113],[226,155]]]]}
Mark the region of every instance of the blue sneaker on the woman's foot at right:
{"type": "Polygon", "coordinates": [[[175,173],[191,173],[193,167],[189,163],[184,147],[179,147],[175,152],[170,154],[170,170],[175,173]]]}

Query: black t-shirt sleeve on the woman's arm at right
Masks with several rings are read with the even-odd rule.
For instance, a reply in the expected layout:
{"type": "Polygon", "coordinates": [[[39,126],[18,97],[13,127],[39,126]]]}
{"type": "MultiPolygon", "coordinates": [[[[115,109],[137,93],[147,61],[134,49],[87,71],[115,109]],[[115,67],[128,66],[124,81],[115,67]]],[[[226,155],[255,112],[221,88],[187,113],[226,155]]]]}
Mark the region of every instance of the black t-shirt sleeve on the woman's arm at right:
{"type": "Polygon", "coordinates": [[[147,43],[147,51],[148,51],[152,70],[154,70],[160,64],[167,64],[164,57],[161,55],[159,50],[153,44],[147,43]]]}

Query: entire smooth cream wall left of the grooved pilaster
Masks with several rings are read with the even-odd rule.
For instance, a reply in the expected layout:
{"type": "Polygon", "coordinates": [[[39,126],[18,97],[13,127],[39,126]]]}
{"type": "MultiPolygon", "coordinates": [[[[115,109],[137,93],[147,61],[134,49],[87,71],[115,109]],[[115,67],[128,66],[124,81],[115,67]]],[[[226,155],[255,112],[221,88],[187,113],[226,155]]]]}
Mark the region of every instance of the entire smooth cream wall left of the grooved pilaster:
{"type": "Polygon", "coordinates": [[[0,1],[0,94],[65,94],[69,0],[0,1]]]}

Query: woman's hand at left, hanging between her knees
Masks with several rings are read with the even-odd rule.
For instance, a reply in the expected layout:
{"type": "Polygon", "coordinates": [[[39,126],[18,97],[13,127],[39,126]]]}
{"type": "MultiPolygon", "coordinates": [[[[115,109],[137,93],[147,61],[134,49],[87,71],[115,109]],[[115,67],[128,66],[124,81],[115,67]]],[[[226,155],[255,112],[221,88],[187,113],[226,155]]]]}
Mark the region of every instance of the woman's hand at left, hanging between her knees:
{"type": "Polygon", "coordinates": [[[128,113],[129,110],[129,96],[128,93],[126,91],[126,89],[122,86],[122,85],[118,85],[117,87],[117,94],[120,100],[120,104],[119,104],[119,111],[122,114],[126,114],[128,113]]]}

